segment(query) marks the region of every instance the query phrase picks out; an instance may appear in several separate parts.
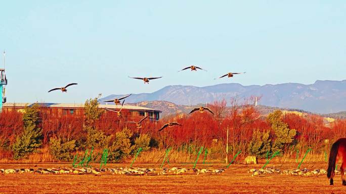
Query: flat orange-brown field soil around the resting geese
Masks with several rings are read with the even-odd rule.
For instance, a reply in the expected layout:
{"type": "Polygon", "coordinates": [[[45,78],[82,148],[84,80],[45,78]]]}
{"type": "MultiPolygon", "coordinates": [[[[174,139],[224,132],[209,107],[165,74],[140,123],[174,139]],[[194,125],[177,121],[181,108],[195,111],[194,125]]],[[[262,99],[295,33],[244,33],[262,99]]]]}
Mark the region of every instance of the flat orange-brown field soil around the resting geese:
{"type": "MultiPolygon", "coordinates": [[[[62,167],[70,164],[0,164],[0,168],[62,167]],[[34,167],[37,165],[37,167],[34,167]]],[[[124,164],[107,164],[107,167],[125,167],[124,164]]],[[[136,164],[136,167],[155,167],[158,164],[136,164]]],[[[166,167],[188,167],[193,164],[169,164],[166,167]]],[[[298,177],[289,175],[262,175],[251,177],[250,168],[259,165],[231,165],[222,175],[193,173],[183,175],[53,175],[6,174],[0,175],[0,193],[346,193],[340,175],[329,185],[326,175],[298,177]]],[[[269,164],[268,167],[273,167],[269,164]]],[[[277,165],[281,170],[296,168],[296,164],[277,165]]],[[[197,164],[196,168],[224,168],[225,164],[197,164]]],[[[304,163],[302,168],[327,169],[326,163],[304,163]]]]}

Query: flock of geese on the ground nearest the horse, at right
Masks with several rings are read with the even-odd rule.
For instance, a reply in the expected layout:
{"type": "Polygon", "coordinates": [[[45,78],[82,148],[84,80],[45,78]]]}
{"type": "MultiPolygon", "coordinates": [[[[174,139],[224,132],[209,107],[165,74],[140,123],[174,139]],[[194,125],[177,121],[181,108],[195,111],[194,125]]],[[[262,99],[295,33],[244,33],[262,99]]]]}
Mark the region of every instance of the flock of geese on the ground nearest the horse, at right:
{"type": "MultiPolygon", "coordinates": [[[[327,171],[325,169],[292,169],[292,170],[280,170],[276,168],[266,168],[266,169],[250,169],[248,173],[251,173],[251,176],[261,176],[265,174],[286,174],[291,176],[318,176],[320,174],[325,175],[327,171]]],[[[335,174],[340,174],[339,170],[335,170],[335,174]]]]}

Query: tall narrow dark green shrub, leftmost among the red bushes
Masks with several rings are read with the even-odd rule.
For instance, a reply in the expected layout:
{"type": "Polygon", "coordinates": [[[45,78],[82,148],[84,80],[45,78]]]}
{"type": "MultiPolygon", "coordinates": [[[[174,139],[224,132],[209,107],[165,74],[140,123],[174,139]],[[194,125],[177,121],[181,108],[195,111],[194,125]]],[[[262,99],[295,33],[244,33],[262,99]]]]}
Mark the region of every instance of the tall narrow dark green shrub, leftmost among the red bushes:
{"type": "Polygon", "coordinates": [[[14,159],[18,160],[25,155],[34,152],[42,144],[42,130],[39,124],[38,105],[25,107],[23,115],[24,132],[16,138],[12,150],[14,159]]]}

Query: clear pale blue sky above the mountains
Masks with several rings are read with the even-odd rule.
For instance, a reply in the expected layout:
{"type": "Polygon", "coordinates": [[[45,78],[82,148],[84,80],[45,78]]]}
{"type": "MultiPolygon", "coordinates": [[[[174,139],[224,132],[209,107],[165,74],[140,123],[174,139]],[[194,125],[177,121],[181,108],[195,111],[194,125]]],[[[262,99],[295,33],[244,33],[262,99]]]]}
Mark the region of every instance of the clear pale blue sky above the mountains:
{"type": "Polygon", "coordinates": [[[2,1],[8,102],[344,80],[345,10],[345,1],[2,1]],[[177,73],[191,64],[208,72],[177,73]],[[67,93],[47,93],[71,82],[67,93]]]}

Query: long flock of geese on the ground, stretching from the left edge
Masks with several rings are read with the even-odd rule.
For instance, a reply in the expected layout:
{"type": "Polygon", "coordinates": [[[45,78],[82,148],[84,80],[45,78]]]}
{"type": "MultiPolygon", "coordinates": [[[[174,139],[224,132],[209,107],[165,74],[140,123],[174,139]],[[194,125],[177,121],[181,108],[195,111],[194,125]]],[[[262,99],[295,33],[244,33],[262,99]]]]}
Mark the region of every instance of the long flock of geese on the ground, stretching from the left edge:
{"type": "Polygon", "coordinates": [[[101,174],[124,174],[124,175],[178,175],[178,174],[221,174],[225,169],[198,169],[198,168],[162,168],[156,170],[155,168],[21,168],[21,169],[0,169],[0,174],[75,174],[75,175],[97,175],[101,174]]]}

